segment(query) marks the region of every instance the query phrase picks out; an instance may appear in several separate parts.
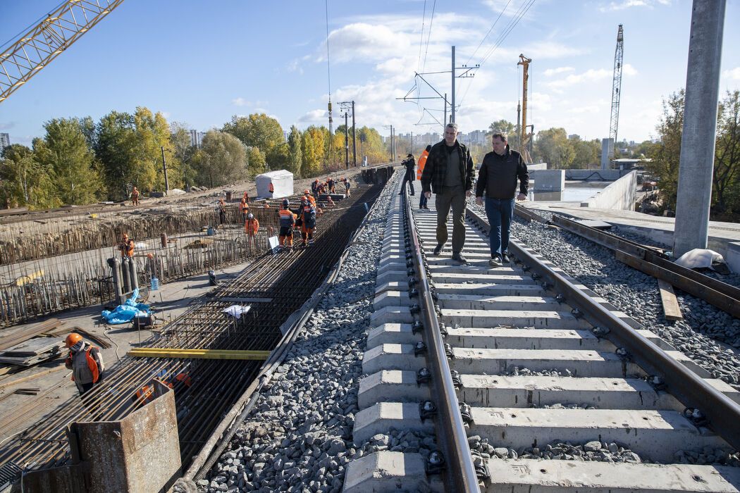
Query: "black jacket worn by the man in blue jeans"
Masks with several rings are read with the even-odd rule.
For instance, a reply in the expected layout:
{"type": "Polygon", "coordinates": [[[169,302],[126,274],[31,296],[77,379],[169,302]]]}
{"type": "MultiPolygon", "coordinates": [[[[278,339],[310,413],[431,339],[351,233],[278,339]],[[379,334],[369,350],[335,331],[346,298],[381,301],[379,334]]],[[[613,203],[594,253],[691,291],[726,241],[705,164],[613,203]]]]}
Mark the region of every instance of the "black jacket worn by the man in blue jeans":
{"type": "Polygon", "coordinates": [[[529,190],[529,171],[522,155],[508,146],[501,156],[491,151],[485,154],[480,165],[475,196],[483,197],[485,194],[485,197],[492,199],[513,199],[517,195],[517,178],[519,193],[526,195],[529,190]]]}

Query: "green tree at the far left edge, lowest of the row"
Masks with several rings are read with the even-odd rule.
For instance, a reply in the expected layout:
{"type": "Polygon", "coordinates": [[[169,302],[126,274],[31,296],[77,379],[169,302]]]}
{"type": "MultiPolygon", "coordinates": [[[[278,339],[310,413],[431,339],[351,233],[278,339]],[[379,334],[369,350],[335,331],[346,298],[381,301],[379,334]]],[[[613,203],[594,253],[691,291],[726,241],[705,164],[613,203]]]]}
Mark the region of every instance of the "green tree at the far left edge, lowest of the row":
{"type": "Polygon", "coordinates": [[[44,169],[33,151],[11,144],[0,153],[0,204],[12,208],[52,208],[61,205],[52,180],[53,170],[44,169]]]}

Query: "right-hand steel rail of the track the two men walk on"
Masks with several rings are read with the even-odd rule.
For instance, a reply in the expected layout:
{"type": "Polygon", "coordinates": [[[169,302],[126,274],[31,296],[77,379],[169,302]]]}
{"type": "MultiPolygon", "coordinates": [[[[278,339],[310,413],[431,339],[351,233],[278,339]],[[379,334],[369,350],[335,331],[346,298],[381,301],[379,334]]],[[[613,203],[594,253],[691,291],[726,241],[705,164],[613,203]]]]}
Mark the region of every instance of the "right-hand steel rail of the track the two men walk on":
{"type": "MultiPolygon", "coordinates": [[[[488,234],[489,225],[480,214],[470,209],[468,218],[488,234]]],[[[740,404],[707,384],[703,378],[676,361],[656,344],[640,335],[634,327],[616,316],[608,307],[596,302],[590,290],[579,288],[578,282],[562,271],[556,271],[537,258],[534,251],[511,240],[509,248],[522,262],[540,276],[546,277],[565,296],[568,305],[578,308],[591,320],[608,328],[607,339],[614,339],[628,351],[630,358],[645,370],[658,375],[666,384],[668,392],[687,408],[701,410],[717,435],[730,446],[740,449],[740,404]]],[[[595,296],[595,295],[594,295],[595,296]]]]}

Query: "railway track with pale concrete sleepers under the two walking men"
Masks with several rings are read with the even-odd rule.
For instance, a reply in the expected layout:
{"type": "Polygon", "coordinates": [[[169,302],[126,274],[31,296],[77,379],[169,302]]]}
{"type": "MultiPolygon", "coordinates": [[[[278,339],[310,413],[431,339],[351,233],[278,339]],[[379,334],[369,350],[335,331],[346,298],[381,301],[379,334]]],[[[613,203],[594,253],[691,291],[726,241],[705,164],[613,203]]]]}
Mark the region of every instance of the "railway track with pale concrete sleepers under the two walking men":
{"type": "Polygon", "coordinates": [[[439,450],[354,460],[347,492],[740,491],[740,392],[516,240],[489,268],[473,211],[468,264],[433,256],[434,209],[397,199],[354,441],[434,432],[439,450]]]}

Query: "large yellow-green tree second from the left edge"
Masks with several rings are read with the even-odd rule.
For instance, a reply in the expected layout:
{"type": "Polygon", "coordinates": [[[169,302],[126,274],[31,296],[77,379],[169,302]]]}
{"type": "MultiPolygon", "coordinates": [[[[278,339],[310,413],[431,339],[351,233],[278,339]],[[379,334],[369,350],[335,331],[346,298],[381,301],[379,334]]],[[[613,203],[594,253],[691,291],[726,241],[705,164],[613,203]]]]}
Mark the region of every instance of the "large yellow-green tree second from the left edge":
{"type": "Polygon", "coordinates": [[[33,152],[41,167],[53,171],[61,203],[97,201],[103,190],[100,172],[80,122],[74,118],[53,119],[44,123],[44,129],[44,138],[33,140],[33,152]]]}

